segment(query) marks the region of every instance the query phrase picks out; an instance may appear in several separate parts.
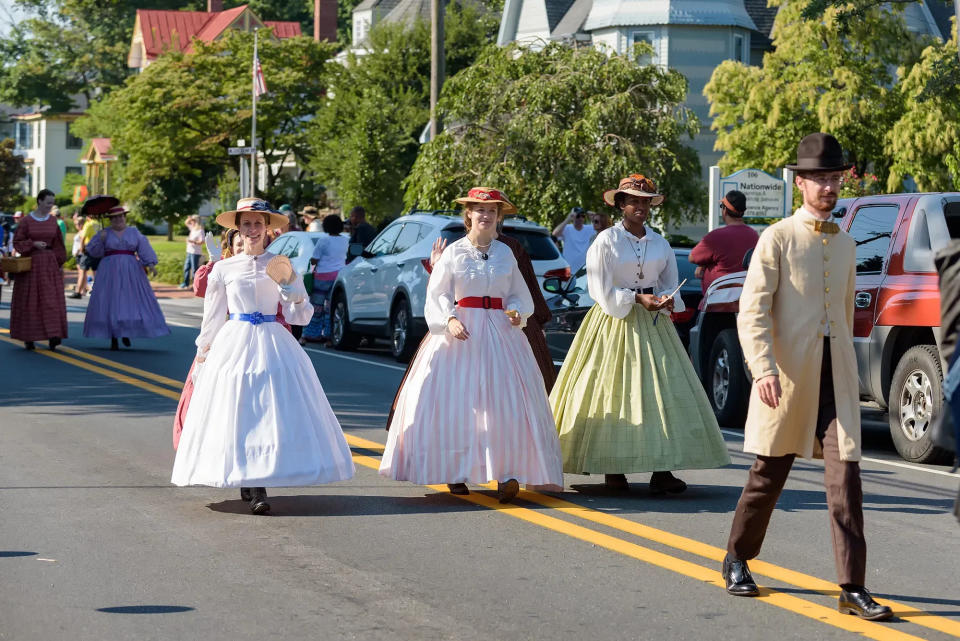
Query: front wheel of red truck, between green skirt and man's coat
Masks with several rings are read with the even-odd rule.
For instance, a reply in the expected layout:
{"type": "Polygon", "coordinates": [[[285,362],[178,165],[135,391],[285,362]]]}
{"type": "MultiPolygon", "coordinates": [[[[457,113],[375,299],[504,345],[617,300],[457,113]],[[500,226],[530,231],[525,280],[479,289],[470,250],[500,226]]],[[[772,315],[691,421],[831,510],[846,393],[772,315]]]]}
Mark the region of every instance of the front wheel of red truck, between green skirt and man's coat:
{"type": "Polygon", "coordinates": [[[723,427],[743,427],[750,402],[750,381],[743,365],[737,330],[717,334],[706,370],[707,397],[723,427]]]}

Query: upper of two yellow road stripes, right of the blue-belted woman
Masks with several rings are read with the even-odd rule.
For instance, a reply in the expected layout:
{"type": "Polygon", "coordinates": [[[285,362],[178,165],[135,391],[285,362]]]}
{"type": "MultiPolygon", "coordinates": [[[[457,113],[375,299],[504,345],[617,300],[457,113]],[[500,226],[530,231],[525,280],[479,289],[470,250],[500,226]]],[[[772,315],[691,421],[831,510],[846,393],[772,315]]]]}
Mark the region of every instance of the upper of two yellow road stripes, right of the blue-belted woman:
{"type": "MultiPolygon", "coordinates": [[[[352,434],[347,435],[347,442],[355,447],[362,447],[364,449],[377,452],[383,451],[382,444],[358,436],[353,436],[352,434]]],[[[711,559],[713,561],[722,561],[723,557],[726,556],[727,553],[723,548],[718,548],[716,546],[697,541],[696,539],[690,539],[672,532],[667,532],[666,530],[660,530],[655,527],[650,527],[649,525],[643,525],[642,523],[638,523],[630,519],[607,514],[605,512],[601,512],[600,510],[584,507],[582,505],[565,501],[547,494],[521,490],[520,498],[525,501],[536,503],[552,510],[562,512],[564,514],[569,514],[570,516],[576,518],[592,521],[593,523],[597,523],[611,529],[620,530],[621,532],[626,532],[628,534],[654,541],[661,545],[672,547],[677,550],[682,550],[690,554],[711,559]]],[[[759,574],[775,581],[787,583],[804,590],[811,590],[833,597],[838,596],[839,593],[839,586],[837,586],[835,583],[831,583],[809,574],[804,574],[802,572],[780,567],[778,565],[774,565],[773,563],[753,560],[750,562],[750,569],[754,574],[759,574]]],[[[960,637],[960,622],[958,621],[952,621],[946,617],[932,615],[904,603],[898,603],[888,599],[878,599],[878,601],[880,603],[884,603],[885,605],[889,605],[891,608],[893,608],[896,615],[905,621],[910,621],[911,623],[915,623],[932,630],[937,630],[938,632],[943,632],[944,634],[960,637]]]]}

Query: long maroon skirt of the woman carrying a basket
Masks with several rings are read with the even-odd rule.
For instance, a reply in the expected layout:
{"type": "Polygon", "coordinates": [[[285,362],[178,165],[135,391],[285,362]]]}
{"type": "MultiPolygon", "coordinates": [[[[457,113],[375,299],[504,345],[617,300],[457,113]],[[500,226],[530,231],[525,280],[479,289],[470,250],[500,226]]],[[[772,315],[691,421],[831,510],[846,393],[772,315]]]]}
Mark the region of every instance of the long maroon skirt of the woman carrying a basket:
{"type": "Polygon", "coordinates": [[[10,338],[45,341],[67,337],[63,274],[52,251],[32,253],[30,271],[13,274],[10,338]]]}

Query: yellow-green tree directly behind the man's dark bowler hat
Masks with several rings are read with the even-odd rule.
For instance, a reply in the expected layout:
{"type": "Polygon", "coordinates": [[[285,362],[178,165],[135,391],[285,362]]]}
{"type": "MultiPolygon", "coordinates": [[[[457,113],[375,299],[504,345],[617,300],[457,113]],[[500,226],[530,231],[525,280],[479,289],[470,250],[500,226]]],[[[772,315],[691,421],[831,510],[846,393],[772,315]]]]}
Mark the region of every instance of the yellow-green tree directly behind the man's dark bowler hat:
{"type": "Polygon", "coordinates": [[[834,134],[860,173],[885,182],[891,159],[884,139],[903,109],[895,69],[918,59],[923,41],[904,24],[902,7],[863,7],[845,23],[843,7],[826,6],[805,18],[811,0],[771,0],[780,5],[774,51],[762,67],[725,61],[704,95],[710,101],[721,167],[776,171],[791,162],[797,141],[815,131],[834,134]]]}

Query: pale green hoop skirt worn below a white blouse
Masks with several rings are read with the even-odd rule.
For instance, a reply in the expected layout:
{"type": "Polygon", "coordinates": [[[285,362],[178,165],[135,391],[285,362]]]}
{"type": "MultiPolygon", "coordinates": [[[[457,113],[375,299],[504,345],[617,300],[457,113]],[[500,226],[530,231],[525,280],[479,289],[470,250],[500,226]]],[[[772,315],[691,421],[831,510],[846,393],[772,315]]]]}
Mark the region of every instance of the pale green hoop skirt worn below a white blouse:
{"type": "Polygon", "coordinates": [[[730,462],[710,401],[673,323],[634,305],[587,312],[550,394],[563,469],[627,474],[730,462]]]}

